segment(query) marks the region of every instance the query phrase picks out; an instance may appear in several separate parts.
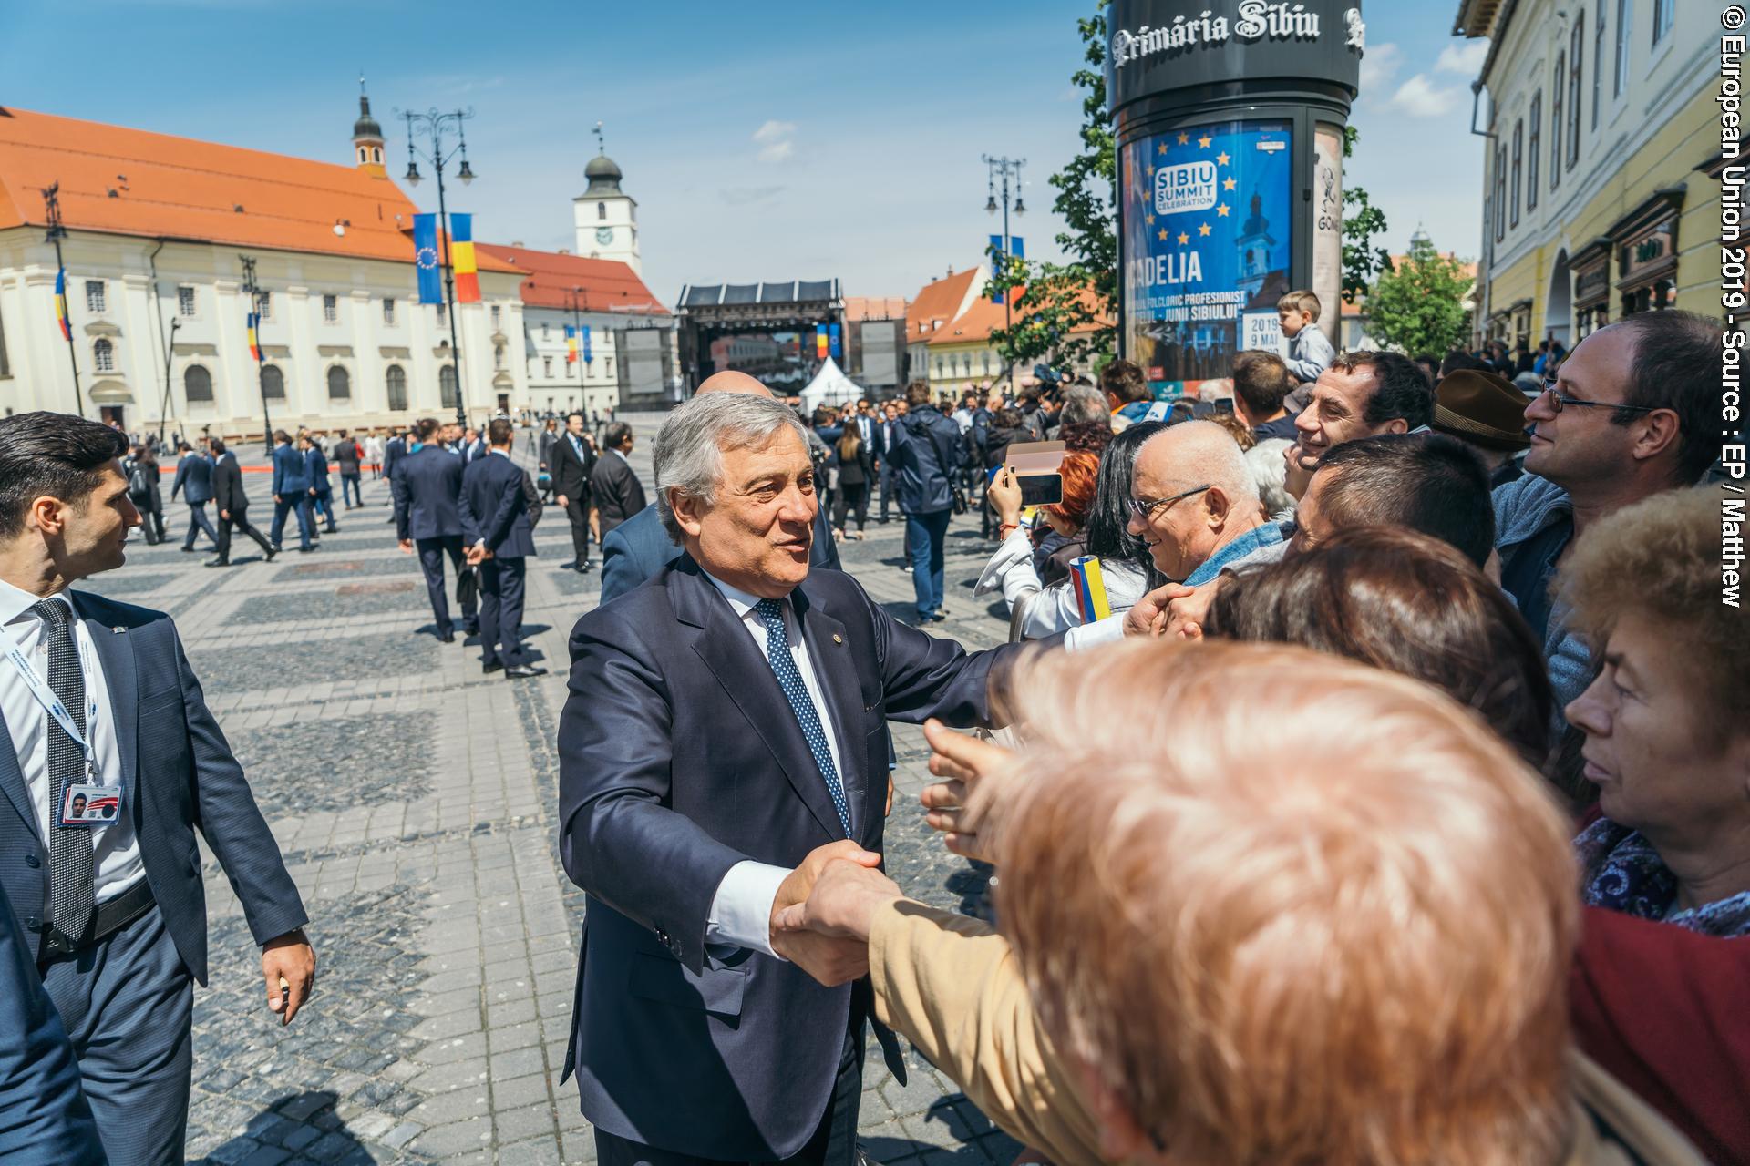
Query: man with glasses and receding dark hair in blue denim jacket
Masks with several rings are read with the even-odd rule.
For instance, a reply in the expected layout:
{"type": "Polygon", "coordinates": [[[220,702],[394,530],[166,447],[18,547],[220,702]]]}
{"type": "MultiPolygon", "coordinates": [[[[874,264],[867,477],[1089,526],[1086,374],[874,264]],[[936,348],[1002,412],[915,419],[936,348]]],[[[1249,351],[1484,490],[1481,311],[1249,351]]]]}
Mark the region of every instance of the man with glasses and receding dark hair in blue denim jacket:
{"type": "Polygon", "coordinates": [[[1502,586],[1544,643],[1556,706],[1592,678],[1550,577],[1592,523],[1664,489],[1694,486],[1720,453],[1720,325],[1647,311],[1600,329],[1526,407],[1526,475],[1494,491],[1502,586]]]}

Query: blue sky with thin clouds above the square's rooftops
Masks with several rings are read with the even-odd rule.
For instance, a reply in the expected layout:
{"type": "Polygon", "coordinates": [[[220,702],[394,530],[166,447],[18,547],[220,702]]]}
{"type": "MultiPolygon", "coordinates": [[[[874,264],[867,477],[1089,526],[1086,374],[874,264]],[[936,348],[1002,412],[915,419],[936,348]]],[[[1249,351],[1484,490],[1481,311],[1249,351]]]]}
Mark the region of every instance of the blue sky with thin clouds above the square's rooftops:
{"type": "MultiPolygon", "coordinates": [[[[0,103],[350,163],[362,70],[392,175],[406,170],[394,108],[474,108],[481,177],[452,208],[478,215],[476,238],[572,246],[570,199],[602,121],[662,299],[682,283],[826,276],[850,295],[912,295],[978,262],[998,229],[980,154],[1027,159],[1015,233],[1029,255],[1055,257],[1046,178],[1078,145],[1080,10],[0,0],[0,103]]],[[[1454,10],[1365,5],[1346,180],[1386,210],[1393,250],[1423,222],[1442,250],[1474,257],[1482,149],[1468,82],[1482,42],[1449,35],[1454,10]]],[[[429,182],[410,192],[436,201],[429,182]]]]}

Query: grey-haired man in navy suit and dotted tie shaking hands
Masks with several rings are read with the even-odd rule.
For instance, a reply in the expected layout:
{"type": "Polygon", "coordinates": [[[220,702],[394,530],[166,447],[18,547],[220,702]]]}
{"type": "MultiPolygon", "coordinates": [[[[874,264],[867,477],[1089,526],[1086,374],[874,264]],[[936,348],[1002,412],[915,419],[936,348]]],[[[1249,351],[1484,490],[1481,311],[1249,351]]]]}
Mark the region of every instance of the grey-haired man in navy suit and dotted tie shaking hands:
{"type": "Polygon", "coordinates": [[[560,857],[590,899],[564,1072],[604,1166],[852,1166],[866,949],[772,918],[826,862],[878,862],[887,718],[985,722],[1027,647],[968,656],[810,572],[814,462],[780,402],[686,402],[656,481],[686,554],[570,636],[560,857]]]}

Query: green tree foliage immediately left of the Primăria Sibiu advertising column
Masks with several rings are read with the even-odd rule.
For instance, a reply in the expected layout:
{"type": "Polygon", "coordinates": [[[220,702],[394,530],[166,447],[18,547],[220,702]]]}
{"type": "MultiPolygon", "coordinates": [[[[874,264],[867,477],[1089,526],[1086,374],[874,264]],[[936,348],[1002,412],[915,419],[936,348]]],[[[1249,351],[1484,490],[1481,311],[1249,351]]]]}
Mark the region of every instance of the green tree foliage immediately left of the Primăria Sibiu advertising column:
{"type": "Polygon", "coordinates": [[[1111,353],[1118,315],[1118,222],[1111,119],[1106,114],[1106,12],[1076,21],[1085,65],[1071,80],[1082,89],[1082,150],[1052,175],[1052,210],[1064,219],[1057,245],[1069,262],[1012,259],[992,278],[992,290],[1024,287],[1013,327],[994,329],[990,341],[1004,360],[1068,364],[1111,353]],[[1076,332],[1076,329],[1092,330],[1076,332]]]}

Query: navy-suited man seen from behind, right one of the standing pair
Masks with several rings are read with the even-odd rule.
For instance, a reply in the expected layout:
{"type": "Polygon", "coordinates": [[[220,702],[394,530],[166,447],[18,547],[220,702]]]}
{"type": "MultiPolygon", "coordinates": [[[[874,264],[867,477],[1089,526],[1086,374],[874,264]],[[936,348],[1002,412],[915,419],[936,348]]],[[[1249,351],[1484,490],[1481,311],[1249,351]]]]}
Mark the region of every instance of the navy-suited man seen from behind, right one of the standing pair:
{"type": "Polygon", "coordinates": [[[544,677],[523,650],[523,566],[536,552],[528,523],[525,474],[511,462],[514,430],[508,418],[486,425],[492,451],[462,470],[462,540],[467,561],[480,568],[481,671],[500,668],[513,680],[544,677]]]}

